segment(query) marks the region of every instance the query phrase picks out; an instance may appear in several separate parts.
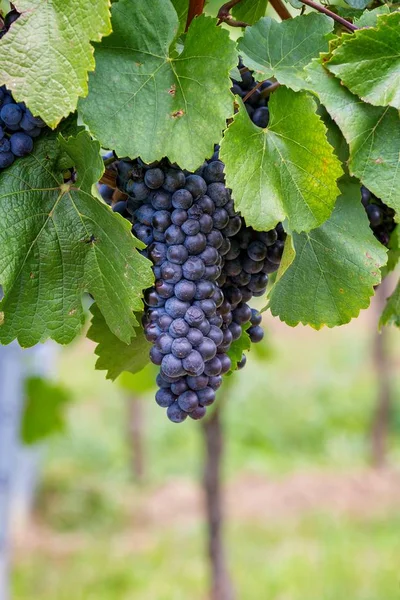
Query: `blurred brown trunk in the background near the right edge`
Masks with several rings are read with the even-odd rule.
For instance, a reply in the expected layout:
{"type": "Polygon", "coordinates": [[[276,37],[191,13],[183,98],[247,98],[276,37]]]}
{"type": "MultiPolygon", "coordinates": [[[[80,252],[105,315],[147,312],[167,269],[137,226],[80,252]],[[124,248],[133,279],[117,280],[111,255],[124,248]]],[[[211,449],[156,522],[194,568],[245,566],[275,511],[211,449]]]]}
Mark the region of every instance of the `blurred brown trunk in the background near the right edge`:
{"type": "MultiPolygon", "coordinates": [[[[376,293],[378,319],[385,306],[386,298],[390,295],[389,288],[388,278],[385,278],[376,293]]],[[[376,329],[373,342],[373,360],[378,382],[378,396],[371,428],[371,460],[374,467],[383,468],[387,464],[388,438],[393,404],[387,327],[383,327],[381,332],[376,329]]]]}

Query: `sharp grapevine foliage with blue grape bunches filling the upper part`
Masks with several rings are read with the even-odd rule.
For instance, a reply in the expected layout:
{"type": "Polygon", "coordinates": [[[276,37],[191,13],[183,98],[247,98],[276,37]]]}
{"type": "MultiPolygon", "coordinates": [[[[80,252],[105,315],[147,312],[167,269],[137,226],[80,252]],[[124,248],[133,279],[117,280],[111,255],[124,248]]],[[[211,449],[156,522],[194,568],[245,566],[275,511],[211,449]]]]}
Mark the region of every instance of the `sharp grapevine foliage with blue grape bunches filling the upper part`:
{"type": "Polygon", "coordinates": [[[0,5],[0,343],[70,343],[87,293],[97,367],[152,361],[182,422],[261,342],[254,298],[368,307],[400,256],[400,13],[292,2],[0,5]]]}

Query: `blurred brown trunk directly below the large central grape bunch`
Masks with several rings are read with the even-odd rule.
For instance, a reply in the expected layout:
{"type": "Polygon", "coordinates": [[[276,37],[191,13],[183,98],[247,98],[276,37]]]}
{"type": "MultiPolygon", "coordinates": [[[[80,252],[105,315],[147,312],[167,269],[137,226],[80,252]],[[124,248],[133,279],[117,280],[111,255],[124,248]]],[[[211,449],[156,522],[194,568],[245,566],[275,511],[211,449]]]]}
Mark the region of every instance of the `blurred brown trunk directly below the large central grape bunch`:
{"type": "Polygon", "coordinates": [[[222,397],[220,404],[203,422],[206,446],[204,465],[204,491],[207,508],[208,555],[211,565],[211,600],[234,600],[223,542],[223,505],[221,466],[223,432],[221,426],[222,397]]]}

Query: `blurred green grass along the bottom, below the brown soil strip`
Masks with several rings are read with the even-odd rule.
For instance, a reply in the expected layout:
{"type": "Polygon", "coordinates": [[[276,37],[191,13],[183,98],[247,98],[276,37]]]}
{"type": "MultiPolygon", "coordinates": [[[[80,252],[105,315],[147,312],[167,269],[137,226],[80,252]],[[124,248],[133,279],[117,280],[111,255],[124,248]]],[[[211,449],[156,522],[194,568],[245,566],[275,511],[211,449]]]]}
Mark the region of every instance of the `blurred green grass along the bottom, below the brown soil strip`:
{"type": "MultiPolygon", "coordinates": [[[[355,522],[316,514],[266,527],[236,523],[227,546],[241,600],[399,600],[400,517],[355,522]]],[[[198,527],[160,531],[135,549],[86,540],[72,555],[37,555],[15,571],[18,600],[203,600],[207,566],[198,527]],[[50,565],[49,565],[50,562],[50,565]]]]}

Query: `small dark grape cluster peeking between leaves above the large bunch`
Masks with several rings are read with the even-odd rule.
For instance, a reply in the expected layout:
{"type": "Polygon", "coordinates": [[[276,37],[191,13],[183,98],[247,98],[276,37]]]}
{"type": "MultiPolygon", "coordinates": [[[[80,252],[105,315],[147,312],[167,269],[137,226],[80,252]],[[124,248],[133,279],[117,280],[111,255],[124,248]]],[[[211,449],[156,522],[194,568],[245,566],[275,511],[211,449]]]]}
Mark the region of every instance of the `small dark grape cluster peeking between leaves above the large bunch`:
{"type": "Polygon", "coordinates": [[[263,81],[261,85],[259,85],[253,77],[253,72],[243,65],[241,59],[239,59],[238,68],[241,79],[232,79],[231,91],[244,99],[251,90],[254,90],[247,98],[244,105],[253,123],[257,125],[257,127],[265,128],[269,122],[269,95],[268,92],[266,93],[266,90],[272,85],[272,81],[263,81]],[[258,85],[259,87],[257,87],[258,85]]]}

